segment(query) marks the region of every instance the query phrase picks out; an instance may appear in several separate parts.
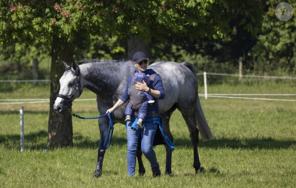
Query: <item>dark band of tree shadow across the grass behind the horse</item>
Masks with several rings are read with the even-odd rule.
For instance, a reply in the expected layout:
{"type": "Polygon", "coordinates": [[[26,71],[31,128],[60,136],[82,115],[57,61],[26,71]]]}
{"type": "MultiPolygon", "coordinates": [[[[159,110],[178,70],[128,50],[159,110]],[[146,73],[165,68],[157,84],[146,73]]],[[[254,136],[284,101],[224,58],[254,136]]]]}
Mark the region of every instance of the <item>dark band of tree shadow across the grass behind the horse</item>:
{"type": "MultiPolygon", "coordinates": [[[[25,147],[30,150],[45,149],[47,145],[47,131],[40,130],[36,132],[25,133],[25,147]],[[29,147],[29,148],[28,148],[29,147]]],[[[90,140],[89,137],[82,136],[76,133],[73,136],[74,147],[77,148],[90,148],[97,149],[100,142],[100,135],[97,136],[97,140],[90,140]]],[[[116,137],[113,135],[111,140],[112,145],[125,146],[127,143],[126,138],[116,137]]],[[[177,138],[174,140],[175,147],[192,148],[189,138],[177,138]]],[[[20,136],[19,135],[0,135],[0,145],[7,149],[20,148],[20,136]]],[[[294,140],[275,140],[273,138],[255,138],[255,139],[213,139],[208,142],[200,142],[199,147],[205,148],[245,148],[245,149],[285,149],[296,145],[294,140]]]]}

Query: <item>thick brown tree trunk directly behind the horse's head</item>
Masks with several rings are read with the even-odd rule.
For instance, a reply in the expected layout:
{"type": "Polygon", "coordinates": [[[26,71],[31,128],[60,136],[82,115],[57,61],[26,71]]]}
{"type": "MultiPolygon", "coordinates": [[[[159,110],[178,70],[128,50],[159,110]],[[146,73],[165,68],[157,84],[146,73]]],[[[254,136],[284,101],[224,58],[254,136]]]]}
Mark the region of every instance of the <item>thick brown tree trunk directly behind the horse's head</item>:
{"type": "Polygon", "coordinates": [[[59,79],[65,70],[61,61],[67,63],[73,61],[73,45],[61,38],[53,37],[47,146],[55,148],[73,146],[72,116],[70,112],[65,111],[63,114],[59,114],[54,111],[54,102],[60,89],[59,79]]]}

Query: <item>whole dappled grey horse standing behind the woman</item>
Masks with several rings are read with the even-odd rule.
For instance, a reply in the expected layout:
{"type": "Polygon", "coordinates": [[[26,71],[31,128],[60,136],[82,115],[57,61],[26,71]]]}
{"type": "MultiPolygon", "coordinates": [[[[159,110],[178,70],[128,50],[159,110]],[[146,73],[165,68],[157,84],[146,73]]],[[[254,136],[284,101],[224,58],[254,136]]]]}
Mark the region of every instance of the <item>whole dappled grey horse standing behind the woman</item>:
{"type": "MultiPolygon", "coordinates": [[[[57,95],[54,110],[63,112],[67,106],[78,98],[86,87],[96,94],[97,109],[100,115],[104,115],[107,109],[111,108],[125,90],[129,76],[134,73],[135,66],[132,61],[124,60],[87,60],[72,63],[71,66],[63,62],[65,72],[60,78],[60,91],[57,95]]],[[[173,141],[169,129],[169,120],[172,112],[178,109],[189,130],[193,146],[193,167],[195,172],[203,171],[201,167],[198,144],[199,130],[204,141],[212,139],[212,133],[201,108],[198,85],[196,82],[195,68],[188,62],[156,62],[150,65],[161,78],[165,90],[165,98],[159,100],[159,108],[162,119],[162,126],[165,135],[173,141]],[[196,124],[198,127],[196,127],[196,124]]],[[[127,103],[122,105],[113,113],[114,123],[124,124],[125,109],[127,103]]],[[[95,177],[102,175],[103,160],[106,148],[104,140],[108,137],[109,118],[107,116],[98,120],[100,128],[100,145],[98,147],[97,164],[94,172],[95,177]]],[[[165,174],[171,174],[171,154],[169,146],[166,148],[165,174]]],[[[139,174],[145,173],[141,151],[138,149],[137,159],[139,174]]]]}

